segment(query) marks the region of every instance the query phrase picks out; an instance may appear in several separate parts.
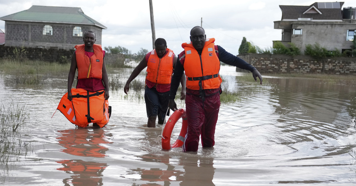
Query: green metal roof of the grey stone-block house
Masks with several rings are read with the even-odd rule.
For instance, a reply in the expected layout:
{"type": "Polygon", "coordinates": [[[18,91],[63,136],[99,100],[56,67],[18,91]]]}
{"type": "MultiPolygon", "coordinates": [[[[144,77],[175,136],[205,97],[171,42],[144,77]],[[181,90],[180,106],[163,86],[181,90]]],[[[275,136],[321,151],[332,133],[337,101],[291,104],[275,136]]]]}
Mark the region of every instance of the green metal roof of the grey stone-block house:
{"type": "Polygon", "coordinates": [[[85,15],[79,7],[35,6],[21,12],[0,17],[3,21],[88,24],[106,29],[94,19],[85,15]]]}

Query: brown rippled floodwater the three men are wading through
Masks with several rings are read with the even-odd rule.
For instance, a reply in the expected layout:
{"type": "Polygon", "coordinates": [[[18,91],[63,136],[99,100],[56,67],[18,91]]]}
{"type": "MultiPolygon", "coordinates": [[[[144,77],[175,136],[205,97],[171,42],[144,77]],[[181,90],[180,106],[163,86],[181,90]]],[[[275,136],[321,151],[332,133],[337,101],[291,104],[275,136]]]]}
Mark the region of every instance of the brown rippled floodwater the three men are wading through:
{"type": "MultiPolygon", "coordinates": [[[[119,69],[109,79],[120,75],[126,82],[131,72],[119,69]]],[[[220,74],[223,86],[239,92],[241,101],[221,105],[214,148],[200,144],[196,154],[162,150],[162,126],[145,127],[144,90],[130,89],[128,97],[123,88],[111,91],[106,128],[77,129],[59,111],[52,117],[66,93],[68,73],[52,75],[41,86],[16,85],[13,77],[1,75],[0,103],[26,104],[30,113],[22,140],[31,142],[32,150],[2,170],[2,184],[356,184],[355,86],[265,74],[260,85],[239,81],[242,73],[227,66],[220,74]]],[[[144,73],[136,79],[143,82],[144,73]]],[[[177,101],[177,107],[185,107],[184,102],[177,101]]],[[[179,131],[177,123],[173,140],[179,131]]]]}

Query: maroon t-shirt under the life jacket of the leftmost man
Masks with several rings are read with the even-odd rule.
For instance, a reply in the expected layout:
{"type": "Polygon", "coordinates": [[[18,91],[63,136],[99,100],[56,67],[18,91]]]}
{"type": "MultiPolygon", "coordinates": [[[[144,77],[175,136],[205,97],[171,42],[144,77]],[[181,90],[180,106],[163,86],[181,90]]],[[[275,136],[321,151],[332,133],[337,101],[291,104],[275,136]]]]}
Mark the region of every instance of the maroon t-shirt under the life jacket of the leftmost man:
{"type": "MultiPolygon", "coordinates": [[[[85,51],[84,54],[89,58],[94,55],[94,52],[85,51]]],[[[103,50],[103,57],[105,57],[105,50],[103,50]]],[[[76,86],[77,89],[85,89],[90,92],[95,92],[98,90],[104,90],[105,86],[103,84],[103,80],[98,78],[85,78],[78,79],[78,83],[76,86]]]]}

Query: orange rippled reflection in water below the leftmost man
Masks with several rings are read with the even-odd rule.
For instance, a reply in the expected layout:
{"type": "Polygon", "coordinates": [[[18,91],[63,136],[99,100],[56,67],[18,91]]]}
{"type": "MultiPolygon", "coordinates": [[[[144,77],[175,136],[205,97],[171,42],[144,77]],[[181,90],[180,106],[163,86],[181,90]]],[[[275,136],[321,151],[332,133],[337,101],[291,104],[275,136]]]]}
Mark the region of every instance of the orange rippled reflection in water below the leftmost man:
{"type": "MultiPolygon", "coordinates": [[[[57,137],[59,145],[65,149],[62,152],[82,157],[105,157],[108,148],[102,144],[110,143],[105,139],[104,130],[100,129],[68,129],[58,130],[62,135],[57,137]]],[[[81,159],[70,159],[56,161],[62,164],[57,170],[71,174],[70,178],[63,179],[64,184],[73,185],[103,185],[103,171],[108,164],[89,162],[81,159]]]]}

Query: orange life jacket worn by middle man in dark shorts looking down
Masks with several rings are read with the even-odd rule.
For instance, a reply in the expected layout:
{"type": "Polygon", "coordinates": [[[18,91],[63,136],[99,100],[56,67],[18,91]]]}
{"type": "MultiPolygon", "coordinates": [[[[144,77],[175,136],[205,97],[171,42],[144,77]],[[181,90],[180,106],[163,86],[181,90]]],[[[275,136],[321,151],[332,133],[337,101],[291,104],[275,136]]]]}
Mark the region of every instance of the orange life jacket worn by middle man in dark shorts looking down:
{"type": "Polygon", "coordinates": [[[151,55],[147,61],[147,76],[146,79],[152,83],[170,84],[173,73],[173,57],[174,53],[171,49],[166,50],[166,55],[159,58],[156,49],[151,51],[151,55]]]}

